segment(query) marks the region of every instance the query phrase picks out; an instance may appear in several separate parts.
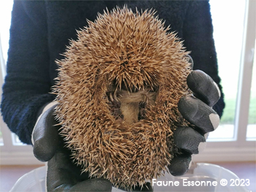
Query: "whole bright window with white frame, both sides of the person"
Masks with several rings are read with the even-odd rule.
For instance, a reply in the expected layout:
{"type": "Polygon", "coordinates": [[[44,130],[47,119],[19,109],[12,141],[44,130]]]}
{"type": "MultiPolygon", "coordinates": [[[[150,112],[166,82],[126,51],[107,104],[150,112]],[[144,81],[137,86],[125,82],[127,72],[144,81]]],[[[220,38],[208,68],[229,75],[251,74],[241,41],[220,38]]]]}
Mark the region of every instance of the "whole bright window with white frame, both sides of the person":
{"type": "MultiPolygon", "coordinates": [[[[226,108],[219,128],[208,137],[208,147],[195,155],[194,161],[255,161],[255,3],[210,1],[226,108]]],[[[12,1],[0,1],[0,85],[5,75],[11,9],[12,1]]],[[[20,142],[2,118],[0,123],[1,164],[38,164],[31,146],[17,145],[20,142]]]]}

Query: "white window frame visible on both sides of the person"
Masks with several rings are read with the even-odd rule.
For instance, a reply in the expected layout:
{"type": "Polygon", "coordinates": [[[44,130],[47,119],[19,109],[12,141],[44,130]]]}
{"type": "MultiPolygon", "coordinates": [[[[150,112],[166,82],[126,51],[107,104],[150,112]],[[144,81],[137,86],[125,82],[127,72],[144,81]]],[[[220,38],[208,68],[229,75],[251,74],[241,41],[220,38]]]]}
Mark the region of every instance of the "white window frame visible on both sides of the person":
{"type": "MultiPolygon", "coordinates": [[[[235,139],[226,142],[208,142],[200,155],[193,156],[193,161],[255,161],[256,142],[246,141],[249,115],[249,97],[252,82],[252,65],[255,53],[255,12],[256,1],[246,0],[244,22],[244,42],[241,53],[241,67],[238,82],[238,99],[236,106],[235,139]]],[[[0,39],[1,45],[1,39],[0,39]]],[[[5,62],[1,53],[0,85],[4,82],[5,62]]],[[[1,93],[1,91],[0,91],[1,93]]],[[[42,164],[37,161],[29,145],[13,145],[12,134],[0,118],[4,145],[0,146],[0,164],[42,164]]]]}

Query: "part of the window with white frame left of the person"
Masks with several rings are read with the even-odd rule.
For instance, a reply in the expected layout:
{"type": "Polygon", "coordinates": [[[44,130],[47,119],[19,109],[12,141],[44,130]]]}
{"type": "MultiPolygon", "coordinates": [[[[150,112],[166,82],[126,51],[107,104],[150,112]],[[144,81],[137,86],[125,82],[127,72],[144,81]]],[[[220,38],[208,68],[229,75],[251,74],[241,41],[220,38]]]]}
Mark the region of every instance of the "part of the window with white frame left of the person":
{"type": "MultiPolygon", "coordinates": [[[[0,1],[0,85],[4,82],[6,72],[12,3],[12,1],[0,1]]],[[[15,134],[11,134],[2,118],[0,118],[0,152],[0,164],[41,164],[34,158],[32,147],[23,145],[15,134]]]]}

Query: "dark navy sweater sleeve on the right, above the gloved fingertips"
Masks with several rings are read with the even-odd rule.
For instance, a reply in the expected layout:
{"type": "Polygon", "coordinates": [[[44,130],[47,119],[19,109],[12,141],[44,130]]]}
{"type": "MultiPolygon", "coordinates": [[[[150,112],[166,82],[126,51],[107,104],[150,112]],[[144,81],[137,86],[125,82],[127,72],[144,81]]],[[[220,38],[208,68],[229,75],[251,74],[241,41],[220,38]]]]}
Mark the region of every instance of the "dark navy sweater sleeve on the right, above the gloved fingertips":
{"type": "Polygon", "coordinates": [[[218,75],[217,53],[214,45],[210,4],[208,1],[191,1],[184,22],[184,46],[191,51],[194,69],[200,69],[217,83],[221,98],[214,110],[222,116],[225,107],[222,86],[218,75]]]}

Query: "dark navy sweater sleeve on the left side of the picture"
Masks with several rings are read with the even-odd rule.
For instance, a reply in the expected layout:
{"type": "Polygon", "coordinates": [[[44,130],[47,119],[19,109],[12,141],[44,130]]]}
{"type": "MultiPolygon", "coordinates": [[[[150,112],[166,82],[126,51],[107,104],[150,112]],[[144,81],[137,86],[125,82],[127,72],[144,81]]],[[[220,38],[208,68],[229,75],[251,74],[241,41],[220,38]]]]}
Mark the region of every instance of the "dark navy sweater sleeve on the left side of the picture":
{"type": "Polygon", "coordinates": [[[37,113],[52,101],[44,1],[14,1],[1,114],[21,142],[31,144],[37,113]]]}

